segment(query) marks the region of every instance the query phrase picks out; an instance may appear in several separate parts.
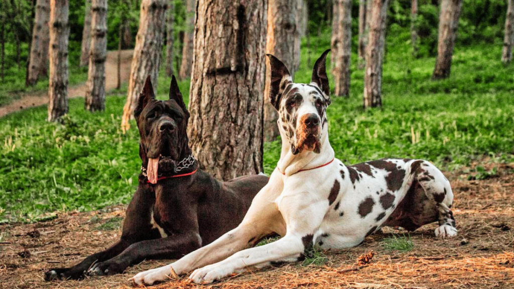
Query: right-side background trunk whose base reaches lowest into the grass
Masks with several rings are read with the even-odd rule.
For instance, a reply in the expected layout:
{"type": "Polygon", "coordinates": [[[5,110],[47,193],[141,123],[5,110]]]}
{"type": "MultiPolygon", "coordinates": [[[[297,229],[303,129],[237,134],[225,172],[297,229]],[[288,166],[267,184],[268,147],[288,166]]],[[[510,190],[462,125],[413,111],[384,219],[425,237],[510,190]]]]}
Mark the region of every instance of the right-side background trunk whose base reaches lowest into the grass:
{"type": "Polygon", "coordinates": [[[372,0],[364,71],[364,108],[382,106],[382,62],[389,0],[372,0]]]}

